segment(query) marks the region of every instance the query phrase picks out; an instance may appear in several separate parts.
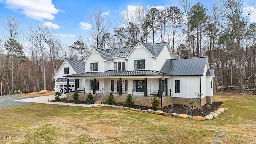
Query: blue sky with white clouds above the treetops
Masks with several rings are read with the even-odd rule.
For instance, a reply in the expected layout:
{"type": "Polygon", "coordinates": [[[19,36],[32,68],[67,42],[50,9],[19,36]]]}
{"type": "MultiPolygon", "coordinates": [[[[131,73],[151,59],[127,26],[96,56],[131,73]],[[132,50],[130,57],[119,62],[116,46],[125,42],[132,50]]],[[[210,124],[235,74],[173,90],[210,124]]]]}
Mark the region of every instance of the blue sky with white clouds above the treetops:
{"type": "MultiPolygon", "coordinates": [[[[210,6],[219,0],[201,0],[210,12],[210,6]]],[[[193,4],[199,1],[193,0],[193,4]]],[[[251,0],[245,0],[248,6],[251,0]]],[[[4,33],[2,22],[8,16],[20,22],[20,29],[26,30],[28,24],[43,24],[52,26],[58,33],[63,44],[72,45],[78,36],[88,36],[90,31],[89,14],[96,7],[102,8],[113,27],[120,24],[119,20],[124,10],[132,10],[134,6],[144,6],[146,9],[156,7],[165,9],[178,6],[178,0],[0,0],[0,34],[4,33]]],[[[256,14],[252,16],[256,22],[256,14]]],[[[110,28],[110,31],[112,28],[110,28]]]]}

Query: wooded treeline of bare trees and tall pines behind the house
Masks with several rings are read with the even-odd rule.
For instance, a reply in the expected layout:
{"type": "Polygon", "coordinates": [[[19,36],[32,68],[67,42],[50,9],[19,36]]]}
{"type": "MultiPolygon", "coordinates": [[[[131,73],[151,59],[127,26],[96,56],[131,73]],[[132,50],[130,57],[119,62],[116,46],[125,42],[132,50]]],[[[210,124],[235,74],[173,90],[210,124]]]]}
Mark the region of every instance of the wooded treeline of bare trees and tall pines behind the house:
{"type": "Polygon", "coordinates": [[[214,90],[222,85],[239,86],[241,92],[255,89],[256,23],[249,23],[255,6],[244,8],[243,0],[220,0],[209,10],[193,4],[179,0],[179,6],[165,10],[136,6],[122,12],[120,24],[113,27],[102,9],[95,8],[89,15],[90,35],[78,36],[72,46],[62,44],[54,28],[36,24],[20,30],[19,22],[8,17],[3,23],[8,33],[0,43],[1,94],[53,89],[52,77],[64,58],[84,60],[93,46],[118,48],[138,41],[169,42],[175,58],[208,56],[214,90]]]}

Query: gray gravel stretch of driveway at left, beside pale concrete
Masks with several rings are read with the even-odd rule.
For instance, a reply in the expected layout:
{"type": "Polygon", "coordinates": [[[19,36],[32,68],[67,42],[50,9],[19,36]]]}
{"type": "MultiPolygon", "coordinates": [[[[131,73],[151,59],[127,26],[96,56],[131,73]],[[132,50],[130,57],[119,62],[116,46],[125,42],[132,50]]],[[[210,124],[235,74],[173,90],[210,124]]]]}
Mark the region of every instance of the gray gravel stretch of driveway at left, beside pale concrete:
{"type": "Polygon", "coordinates": [[[0,96],[0,108],[11,108],[16,106],[24,106],[27,104],[33,104],[32,102],[18,102],[15,100],[22,100],[25,98],[34,98],[42,95],[33,95],[33,96],[20,96],[18,95],[8,95],[0,96]]]}

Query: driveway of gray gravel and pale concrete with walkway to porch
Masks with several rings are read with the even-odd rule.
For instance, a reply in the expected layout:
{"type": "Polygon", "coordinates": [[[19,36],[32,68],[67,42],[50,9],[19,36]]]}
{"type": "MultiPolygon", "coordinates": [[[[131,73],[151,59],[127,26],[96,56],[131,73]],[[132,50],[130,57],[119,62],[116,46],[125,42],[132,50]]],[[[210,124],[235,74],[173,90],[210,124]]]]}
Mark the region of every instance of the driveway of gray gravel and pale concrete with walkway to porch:
{"type": "MultiPolygon", "coordinates": [[[[64,96],[61,96],[62,98],[64,96]]],[[[11,108],[16,106],[24,106],[33,103],[42,104],[58,104],[67,106],[82,106],[82,107],[92,107],[98,104],[74,104],[74,103],[64,103],[64,102],[51,102],[54,99],[54,94],[51,95],[34,95],[34,96],[20,96],[20,95],[10,95],[10,96],[0,96],[0,108],[11,108]]]]}

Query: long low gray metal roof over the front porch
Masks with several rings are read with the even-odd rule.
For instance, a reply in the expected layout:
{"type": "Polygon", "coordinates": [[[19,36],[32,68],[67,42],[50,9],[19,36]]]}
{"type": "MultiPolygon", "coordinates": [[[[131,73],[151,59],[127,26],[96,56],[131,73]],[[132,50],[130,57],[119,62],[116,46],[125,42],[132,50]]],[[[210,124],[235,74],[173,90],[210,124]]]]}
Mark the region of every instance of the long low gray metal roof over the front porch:
{"type": "Polygon", "coordinates": [[[106,72],[85,72],[82,74],[72,74],[65,77],[79,76],[145,76],[145,75],[163,75],[161,72],[154,70],[108,70],[106,72]]]}

